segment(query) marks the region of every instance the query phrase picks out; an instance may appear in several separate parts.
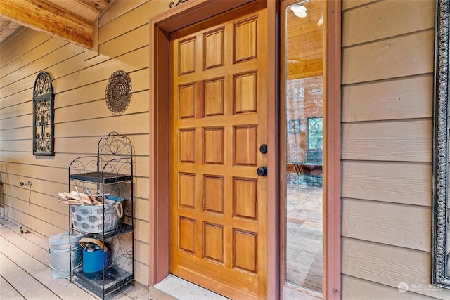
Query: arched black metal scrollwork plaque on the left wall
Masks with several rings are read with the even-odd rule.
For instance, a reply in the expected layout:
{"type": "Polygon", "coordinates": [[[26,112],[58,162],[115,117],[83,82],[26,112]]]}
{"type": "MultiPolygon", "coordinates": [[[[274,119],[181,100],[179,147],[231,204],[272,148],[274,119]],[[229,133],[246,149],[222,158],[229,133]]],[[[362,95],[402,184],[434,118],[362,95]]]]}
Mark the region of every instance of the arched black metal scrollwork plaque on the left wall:
{"type": "Polygon", "coordinates": [[[55,95],[50,75],[39,72],[33,88],[33,154],[55,155],[54,108],[55,95]]]}

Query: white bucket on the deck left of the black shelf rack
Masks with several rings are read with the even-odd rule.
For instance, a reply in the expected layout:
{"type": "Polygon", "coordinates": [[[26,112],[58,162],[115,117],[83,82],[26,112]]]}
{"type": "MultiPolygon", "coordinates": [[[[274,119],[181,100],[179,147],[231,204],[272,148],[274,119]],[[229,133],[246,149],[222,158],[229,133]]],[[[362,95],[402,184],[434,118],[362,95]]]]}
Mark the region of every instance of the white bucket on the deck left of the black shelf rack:
{"type": "Polygon", "coordinates": [[[49,237],[49,252],[47,253],[47,263],[52,269],[54,278],[70,277],[70,262],[72,261],[72,270],[78,268],[83,263],[82,247],[79,240],[83,237],[81,233],[73,232],[70,236],[72,249],[72,258],[70,258],[69,233],[58,233],[49,237]],[[49,261],[51,254],[51,262],[49,261]]]}

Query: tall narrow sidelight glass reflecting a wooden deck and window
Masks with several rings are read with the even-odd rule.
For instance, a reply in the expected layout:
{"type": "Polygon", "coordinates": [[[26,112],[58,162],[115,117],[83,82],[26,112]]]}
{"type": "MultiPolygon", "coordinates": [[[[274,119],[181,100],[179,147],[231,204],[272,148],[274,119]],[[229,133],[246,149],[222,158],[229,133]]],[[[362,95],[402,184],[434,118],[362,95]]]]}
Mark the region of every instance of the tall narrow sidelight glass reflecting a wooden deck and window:
{"type": "Polygon", "coordinates": [[[285,281],[322,292],[323,1],[285,8],[285,281]]]}

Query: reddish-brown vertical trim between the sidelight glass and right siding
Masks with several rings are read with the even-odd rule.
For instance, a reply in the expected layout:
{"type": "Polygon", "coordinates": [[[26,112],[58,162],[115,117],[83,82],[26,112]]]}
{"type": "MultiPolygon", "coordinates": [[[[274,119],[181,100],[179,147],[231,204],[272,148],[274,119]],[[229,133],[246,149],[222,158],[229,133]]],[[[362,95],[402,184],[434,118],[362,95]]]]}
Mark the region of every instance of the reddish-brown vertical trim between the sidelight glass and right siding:
{"type": "Polygon", "coordinates": [[[324,249],[324,297],[341,297],[341,0],[326,1],[326,127],[325,171],[327,190],[326,248],[324,249]]]}

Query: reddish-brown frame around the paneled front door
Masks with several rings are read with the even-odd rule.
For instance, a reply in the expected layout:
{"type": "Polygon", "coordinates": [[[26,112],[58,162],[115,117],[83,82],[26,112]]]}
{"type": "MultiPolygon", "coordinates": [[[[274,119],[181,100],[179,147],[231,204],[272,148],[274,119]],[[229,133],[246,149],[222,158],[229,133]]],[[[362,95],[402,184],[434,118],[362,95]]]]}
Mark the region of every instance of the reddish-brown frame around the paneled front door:
{"type": "MultiPolygon", "coordinates": [[[[191,0],[150,19],[149,103],[149,278],[155,285],[169,275],[169,32],[205,20],[251,0],[191,0]]],[[[278,1],[267,1],[268,41],[278,40],[278,1]]],[[[267,67],[268,120],[278,124],[277,43],[269,43],[267,67]]],[[[276,125],[278,126],[278,125],[276,125]]],[[[265,289],[267,299],[279,297],[278,141],[276,128],[268,133],[268,243],[265,289]]]]}

